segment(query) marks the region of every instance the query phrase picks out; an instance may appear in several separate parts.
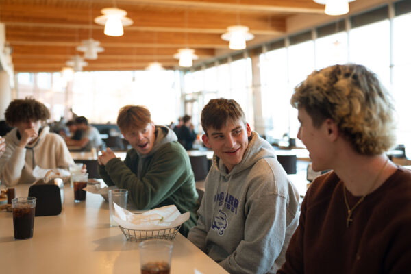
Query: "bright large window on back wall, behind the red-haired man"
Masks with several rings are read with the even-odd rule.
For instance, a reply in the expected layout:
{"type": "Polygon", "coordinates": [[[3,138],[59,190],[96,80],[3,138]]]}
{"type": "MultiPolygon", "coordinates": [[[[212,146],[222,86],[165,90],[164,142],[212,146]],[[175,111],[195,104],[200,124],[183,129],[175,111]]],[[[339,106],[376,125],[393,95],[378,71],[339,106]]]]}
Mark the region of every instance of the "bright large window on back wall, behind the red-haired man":
{"type": "Polygon", "coordinates": [[[73,108],[91,123],[116,123],[119,109],[129,104],[147,106],[158,124],[169,124],[179,114],[178,71],[77,72],[68,86],[60,73],[18,73],[16,78],[17,97],[45,103],[55,121],[73,108]]]}

